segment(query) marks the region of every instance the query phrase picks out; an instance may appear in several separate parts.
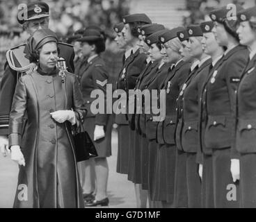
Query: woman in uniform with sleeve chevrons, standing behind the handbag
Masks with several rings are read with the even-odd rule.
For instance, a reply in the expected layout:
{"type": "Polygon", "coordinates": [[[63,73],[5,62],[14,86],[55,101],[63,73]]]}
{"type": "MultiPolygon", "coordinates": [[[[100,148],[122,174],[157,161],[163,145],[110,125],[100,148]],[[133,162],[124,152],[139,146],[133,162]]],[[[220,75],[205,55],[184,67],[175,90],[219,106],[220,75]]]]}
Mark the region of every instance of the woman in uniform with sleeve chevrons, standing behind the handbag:
{"type": "Polygon", "coordinates": [[[83,75],[80,83],[83,101],[88,109],[88,115],[83,125],[93,139],[98,153],[98,157],[86,160],[88,194],[94,191],[94,183],[96,181],[95,199],[92,197],[86,205],[109,205],[109,198],[106,194],[109,176],[106,157],[111,155],[111,124],[108,124],[109,115],[106,114],[106,85],[109,80],[109,74],[106,71],[104,61],[100,57],[100,53],[105,50],[105,41],[102,33],[92,28],[86,29],[83,37],[78,41],[81,42],[81,53],[88,58],[86,65],[81,70],[83,75]],[[103,106],[101,112],[98,112],[96,105],[93,105],[95,99],[90,96],[95,89],[104,95],[103,98],[100,96],[101,99],[99,100],[99,107],[103,106]],[[95,178],[90,175],[90,168],[92,167],[95,170],[95,178]]]}

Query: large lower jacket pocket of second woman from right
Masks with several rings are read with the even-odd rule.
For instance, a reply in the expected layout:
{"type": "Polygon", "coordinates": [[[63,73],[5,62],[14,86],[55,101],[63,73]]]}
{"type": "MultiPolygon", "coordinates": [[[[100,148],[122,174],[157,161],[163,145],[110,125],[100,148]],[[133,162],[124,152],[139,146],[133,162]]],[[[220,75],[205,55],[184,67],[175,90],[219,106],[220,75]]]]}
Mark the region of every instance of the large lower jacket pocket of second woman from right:
{"type": "Polygon", "coordinates": [[[207,148],[227,148],[231,146],[234,121],[226,116],[209,116],[205,128],[207,148]]]}

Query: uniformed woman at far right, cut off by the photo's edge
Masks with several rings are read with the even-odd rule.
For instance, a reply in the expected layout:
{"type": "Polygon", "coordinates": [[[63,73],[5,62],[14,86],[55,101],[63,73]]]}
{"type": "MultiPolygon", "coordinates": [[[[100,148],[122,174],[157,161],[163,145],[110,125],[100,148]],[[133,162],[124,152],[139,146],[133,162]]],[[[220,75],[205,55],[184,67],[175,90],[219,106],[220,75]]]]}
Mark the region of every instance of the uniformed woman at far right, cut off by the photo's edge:
{"type": "Polygon", "coordinates": [[[256,207],[255,83],[256,83],[256,7],[238,15],[240,44],[248,46],[250,61],[243,71],[237,91],[236,148],[240,153],[241,207],[256,207]]]}

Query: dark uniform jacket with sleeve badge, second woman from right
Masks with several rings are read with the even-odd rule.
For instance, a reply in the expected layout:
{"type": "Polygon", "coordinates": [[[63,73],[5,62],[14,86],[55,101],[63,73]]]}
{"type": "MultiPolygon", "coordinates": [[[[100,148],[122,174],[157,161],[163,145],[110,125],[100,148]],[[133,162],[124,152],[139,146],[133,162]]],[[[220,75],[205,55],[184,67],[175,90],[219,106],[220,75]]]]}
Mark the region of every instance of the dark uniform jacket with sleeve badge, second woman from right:
{"type": "MultiPolygon", "coordinates": [[[[202,89],[202,103],[207,114],[206,148],[228,148],[234,151],[236,92],[248,61],[248,49],[238,45],[229,51],[216,67],[202,89]],[[205,95],[204,95],[205,94],[205,95]]],[[[232,152],[232,157],[237,153],[232,152]]]]}

